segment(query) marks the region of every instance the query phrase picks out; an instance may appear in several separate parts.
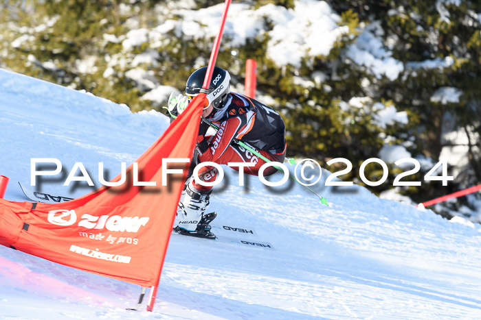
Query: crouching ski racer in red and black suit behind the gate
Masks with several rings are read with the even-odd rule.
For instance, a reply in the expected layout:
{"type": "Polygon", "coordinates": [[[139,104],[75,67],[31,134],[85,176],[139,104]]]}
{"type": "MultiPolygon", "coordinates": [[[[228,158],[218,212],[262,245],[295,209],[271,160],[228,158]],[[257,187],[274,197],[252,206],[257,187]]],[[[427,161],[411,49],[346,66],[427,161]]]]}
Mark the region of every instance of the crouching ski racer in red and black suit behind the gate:
{"type": "MultiPolygon", "coordinates": [[[[186,83],[186,96],[171,95],[168,110],[172,118],[183,111],[190,99],[199,95],[206,71],[207,67],[204,66],[190,75],[186,83]]],[[[205,214],[212,187],[202,186],[194,181],[191,177],[194,167],[201,162],[250,162],[253,165],[245,168],[245,172],[257,175],[262,164],[266,163],[265,160],[238,145],[236,140],[253,147],[271,161],[283,162],[286,137],[284,121],[280,115],[255,99],[230,92],[230,75],[219,67],[214,68],[207,100],[174,229],[189,236],[215,238],[210,232],[209,223],[216,214],[205,214]],[[219,127],[214,136],[206,136],[210,123],[219,127]]],[[[264,175],[275,172],[276,169],[269,167],[264,175]]],[[[203,167],[199,171],[203,182],[214,182],[216,176],[217,170],[214,167],[203,167]]]]}

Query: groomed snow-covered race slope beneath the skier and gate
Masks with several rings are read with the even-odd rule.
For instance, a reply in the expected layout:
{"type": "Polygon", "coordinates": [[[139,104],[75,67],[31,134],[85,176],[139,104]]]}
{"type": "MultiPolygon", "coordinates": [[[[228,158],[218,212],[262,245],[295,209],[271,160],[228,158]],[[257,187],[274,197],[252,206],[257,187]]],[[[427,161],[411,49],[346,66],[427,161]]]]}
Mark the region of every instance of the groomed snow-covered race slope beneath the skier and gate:
{"type": "MultiPolygon", "coordinates": [[[[30,158],[58,158],[62,186],[81,161],[112,175],[166,129],[157,112],[126,106],[0,69],[0,175],[5,199],[25,201],[30,158]]],[[[128,311],[139,286],[0,247],[1,319],[479,319],[481,227],[379,199],[359,186],[247,188],[225,169],[211,208],[219,223],[254,227],[276,250],[172,236],[154,312],[128,311]],[[225,181],[227,181],[225,180],[225,181]]],[[[326,172],[324,172],[326,173],[326,172]]],[[[280,179],[280,177],[276,177],[280,179]]]]}

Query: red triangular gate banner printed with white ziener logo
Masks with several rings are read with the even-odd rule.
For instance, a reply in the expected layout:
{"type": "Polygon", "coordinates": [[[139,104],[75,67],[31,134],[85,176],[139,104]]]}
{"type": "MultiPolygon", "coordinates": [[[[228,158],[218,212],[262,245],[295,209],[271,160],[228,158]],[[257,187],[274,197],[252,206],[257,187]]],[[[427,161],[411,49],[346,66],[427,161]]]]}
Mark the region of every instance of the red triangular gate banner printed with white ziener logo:
{"type": "MultiPolygon", "coordinates": [[[[157,286],[188,169],[183,162],[164,170],[162,162],[192,158],[204,99],[198,95],[137,159],[138,181],[156,186],[133,186],[131,164],[121,186],[102,186],[60,204],[0,199],[0,244],[91,273],[157,286]],[[163,171],[176,169],[183,170],[167,174],[162,186],[163,171]]],[[[120,175],[112,181],[119,180],[120,175]]]]}

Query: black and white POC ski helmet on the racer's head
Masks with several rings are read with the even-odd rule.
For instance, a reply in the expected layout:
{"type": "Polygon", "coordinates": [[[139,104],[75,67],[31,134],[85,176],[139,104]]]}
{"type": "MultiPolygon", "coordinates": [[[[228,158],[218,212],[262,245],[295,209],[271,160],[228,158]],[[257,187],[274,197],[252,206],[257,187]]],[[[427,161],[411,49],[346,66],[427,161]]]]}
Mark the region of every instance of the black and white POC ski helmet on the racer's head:
{"type": "MultiPolygon", "coordinates": [[[[203,66],[201,69],[197,69],[190,75],[186,83],[186,95],[189,97],[195,97],[201,92],[201,88],[204,82],[205,73],[207,72],[207,66],[203,66]]],[[[212,103],[212,106],[216,109],[222,108],[223,104],[227,100],[230,93],[230,74],[216,66],[212,73],[212,79],[210,80],[210,87],[208,90],[208,100],[212,103]]]]}

